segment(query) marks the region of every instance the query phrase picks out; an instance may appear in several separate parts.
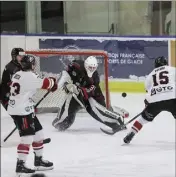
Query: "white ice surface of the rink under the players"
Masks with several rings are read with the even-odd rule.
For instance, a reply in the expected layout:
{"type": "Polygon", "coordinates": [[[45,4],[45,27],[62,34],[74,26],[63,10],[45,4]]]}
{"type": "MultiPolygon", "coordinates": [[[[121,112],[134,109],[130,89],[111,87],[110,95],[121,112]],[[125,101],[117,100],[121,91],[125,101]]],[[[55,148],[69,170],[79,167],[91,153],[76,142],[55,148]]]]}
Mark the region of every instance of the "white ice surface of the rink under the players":
{"type": "MultiPolygon", "coordinates": [[[[143,109],[143,100],[139,94],[111,95],[113,105],[126,108],[131,117],[143,109]]],[[[4,110],[1,113],[3,139],[14,125],[4,110]]],[[[128,146],[122,146],[128,131],[105,135],[99,130],[101,125],[86,114],[78,115],[63,133],[52,127],[54,117],[39,115],[45,137],[52,139],[44,149],[45,159],[54,162],[54,170],[45,172],[47,177],[175,177],[175,120],[170,113],[163,112],[145,125],[128,146]]],[[[1,177],[15,175],[18,141],[16,132],[1,147],[1,177]]],[[[32,150],[28,165],[33,165],[32,150]]]]}

